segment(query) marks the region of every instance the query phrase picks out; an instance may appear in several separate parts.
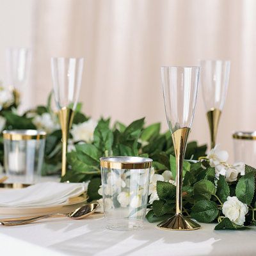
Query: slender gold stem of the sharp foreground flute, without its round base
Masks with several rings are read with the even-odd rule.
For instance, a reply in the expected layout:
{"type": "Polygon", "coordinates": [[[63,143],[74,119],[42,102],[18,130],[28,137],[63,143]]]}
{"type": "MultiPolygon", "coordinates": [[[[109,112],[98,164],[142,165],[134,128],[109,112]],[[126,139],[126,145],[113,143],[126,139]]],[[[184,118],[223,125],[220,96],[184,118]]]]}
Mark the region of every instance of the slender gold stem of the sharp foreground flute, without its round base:
{"type": "Polygon", "coordinates": [[[176,214],[182,214],[182,170],[190,129],[180,128],[173,132],[172,140],[176,156],[176,214]]]}

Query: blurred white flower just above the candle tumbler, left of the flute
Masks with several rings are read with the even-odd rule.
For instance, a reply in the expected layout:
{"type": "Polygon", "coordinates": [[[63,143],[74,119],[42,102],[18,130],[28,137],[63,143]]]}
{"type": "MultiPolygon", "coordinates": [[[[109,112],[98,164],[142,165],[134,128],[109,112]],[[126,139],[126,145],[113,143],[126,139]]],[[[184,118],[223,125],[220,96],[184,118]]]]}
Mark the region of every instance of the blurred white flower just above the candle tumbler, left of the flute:
{"type": "Polygon", "coordinates": [[[60,128],[60,125],[52,118],[50,113],[35,116],[33,124],[36,125],[37,129],[42,129],[47,133],[51,133],[60,128]]]}

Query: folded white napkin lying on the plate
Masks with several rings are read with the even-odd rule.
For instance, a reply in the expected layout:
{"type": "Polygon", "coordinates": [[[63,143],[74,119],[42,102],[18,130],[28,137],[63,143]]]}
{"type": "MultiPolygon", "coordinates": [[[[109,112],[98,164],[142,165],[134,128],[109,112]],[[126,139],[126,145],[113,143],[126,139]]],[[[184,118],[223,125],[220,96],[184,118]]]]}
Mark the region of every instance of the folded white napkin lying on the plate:
{"type": "Polygon", "coordinates": [[[28,188],[0,191],[0,207],[44,207],[60,205],[84,193],[81,183],[42,182],[28,188]]]}

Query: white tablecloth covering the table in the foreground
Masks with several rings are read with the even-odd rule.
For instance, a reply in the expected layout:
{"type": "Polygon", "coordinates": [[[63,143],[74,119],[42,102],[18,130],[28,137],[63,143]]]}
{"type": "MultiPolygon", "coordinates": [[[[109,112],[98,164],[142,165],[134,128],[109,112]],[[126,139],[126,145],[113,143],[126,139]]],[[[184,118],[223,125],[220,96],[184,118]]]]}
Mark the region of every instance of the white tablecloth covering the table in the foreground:
{"type": "Polygon", "coordinates": [[[0,226],[1,255],[256,255],[256,228],[213,228],[203,224],[195,231],[167,231],[145,221],[144,230],[120,232],[104,228],[102,215],[84,220],[41,220],[0,226]]]}

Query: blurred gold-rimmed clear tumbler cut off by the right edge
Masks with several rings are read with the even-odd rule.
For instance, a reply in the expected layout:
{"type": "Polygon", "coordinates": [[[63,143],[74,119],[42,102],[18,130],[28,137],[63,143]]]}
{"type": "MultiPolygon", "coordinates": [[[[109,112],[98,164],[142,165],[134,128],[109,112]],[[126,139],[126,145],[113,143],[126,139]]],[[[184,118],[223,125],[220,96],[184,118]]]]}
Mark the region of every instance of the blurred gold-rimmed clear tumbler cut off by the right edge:
{"type": "Polygon", "coordinates": [[[256,131],[234,132],[234,159],[256,167],[256,131]]]}

